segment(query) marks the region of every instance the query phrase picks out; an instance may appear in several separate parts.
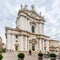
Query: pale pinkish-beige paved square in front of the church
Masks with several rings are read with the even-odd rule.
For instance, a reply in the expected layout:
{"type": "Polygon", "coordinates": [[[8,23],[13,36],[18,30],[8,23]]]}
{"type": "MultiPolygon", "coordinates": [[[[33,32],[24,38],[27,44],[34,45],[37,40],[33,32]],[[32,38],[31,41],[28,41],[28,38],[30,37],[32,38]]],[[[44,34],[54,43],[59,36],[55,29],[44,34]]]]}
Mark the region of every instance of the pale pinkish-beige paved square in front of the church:
{"type": "MultiPolygon", "coordinates": [[[[17,54],[19,52],[6,52],[3,53],[4,58],[2,60],[18,60],[17,54]]],[[[25,59],[24,60],[38,60],[37,52],[33,52],[30,56],[28,52],[24,52],[25,59]]],[[[50,60],[50,58],[43,58],[43,60],[50,60]]],[[[60,59],[57,59],[60,60],[60,59]]]]}

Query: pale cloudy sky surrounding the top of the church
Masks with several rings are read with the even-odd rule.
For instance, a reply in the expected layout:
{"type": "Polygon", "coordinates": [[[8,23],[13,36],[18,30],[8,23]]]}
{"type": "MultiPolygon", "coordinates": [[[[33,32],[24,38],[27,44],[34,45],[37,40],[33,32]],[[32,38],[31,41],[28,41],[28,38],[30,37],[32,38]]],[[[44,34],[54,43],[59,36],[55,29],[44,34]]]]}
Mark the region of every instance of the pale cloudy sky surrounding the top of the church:
{"type": "Polygon", "coordinates": [[[60,0],[0,0],[0,36],[4,43],[5,27],[15,28],[21,4],[28,9],[34,4],[35,11],[45,18],[44,33],[51,39],[60,40],[60,0]]]}

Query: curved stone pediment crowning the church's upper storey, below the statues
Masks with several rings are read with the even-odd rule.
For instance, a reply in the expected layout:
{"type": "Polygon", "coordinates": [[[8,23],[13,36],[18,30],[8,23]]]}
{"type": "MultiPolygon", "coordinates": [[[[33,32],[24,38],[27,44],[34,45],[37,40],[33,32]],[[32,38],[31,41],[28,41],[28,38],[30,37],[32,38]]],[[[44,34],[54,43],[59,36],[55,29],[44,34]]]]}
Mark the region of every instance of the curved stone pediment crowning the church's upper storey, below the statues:
{"type": "Polygon", "coordinates": [[[35,10],[19,10],[18,12],[18,16],[25,16],[26,18],[29,17],[29,18],[33,18],[33,19],[36,19],[36,20],[42,20],[42,21],[45,21],[44,18],[42,16],[40,16],[35,10]]]}

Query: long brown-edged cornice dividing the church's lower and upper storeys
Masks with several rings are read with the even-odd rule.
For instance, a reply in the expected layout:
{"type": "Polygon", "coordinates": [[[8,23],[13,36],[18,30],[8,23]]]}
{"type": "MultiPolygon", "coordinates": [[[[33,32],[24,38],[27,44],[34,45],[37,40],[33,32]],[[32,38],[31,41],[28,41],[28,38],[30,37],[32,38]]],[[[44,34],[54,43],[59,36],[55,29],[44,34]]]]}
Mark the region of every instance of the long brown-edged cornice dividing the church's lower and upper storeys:
{"type": "Polygon", "coordinates": [[[9,27],[6,27],[6,34],[7,34],[7,30],[11,30],[11,31],[16,31],[16,32],[19,32],[20,35],[35,35],[37,38],[50,38],[49,36],[46,36],[46,35],[42,35],[42,34],[34,34],[34,33],[31,33],[31,32],[28,32],[28,31],[24,31],[24,30],[21,30],[21,29],[13,29],[13,28],[9,28],[9,27]]]}

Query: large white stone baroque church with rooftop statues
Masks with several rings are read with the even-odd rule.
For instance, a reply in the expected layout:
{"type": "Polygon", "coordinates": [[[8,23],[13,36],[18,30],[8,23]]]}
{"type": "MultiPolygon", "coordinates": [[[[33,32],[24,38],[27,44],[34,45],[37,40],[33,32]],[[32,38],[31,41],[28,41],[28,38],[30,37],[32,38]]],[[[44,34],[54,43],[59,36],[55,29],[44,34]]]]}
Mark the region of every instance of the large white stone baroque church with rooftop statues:
{"type": "Polygon", "coordinates": [[[6,49],[8,51],[49,51],[49,36],[44,35],[44,17],[39,15],[34,5],[27,5],[18,11],[16,28],[6,27],[6,49]]]}

